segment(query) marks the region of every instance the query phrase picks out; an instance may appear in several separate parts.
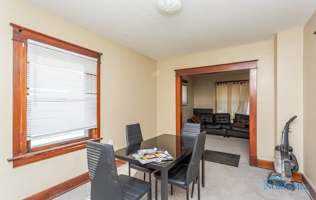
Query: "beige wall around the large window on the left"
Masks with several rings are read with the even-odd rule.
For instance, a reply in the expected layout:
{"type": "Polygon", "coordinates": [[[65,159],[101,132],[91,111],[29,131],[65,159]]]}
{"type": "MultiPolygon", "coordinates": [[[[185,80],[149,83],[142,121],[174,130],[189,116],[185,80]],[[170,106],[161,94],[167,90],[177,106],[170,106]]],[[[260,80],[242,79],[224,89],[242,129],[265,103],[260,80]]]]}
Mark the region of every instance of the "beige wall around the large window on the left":
{"type": "Polygon", "coordinates": [[[140,123],[144,139],[157,135],[157,61],[90,33],[24,1],[0,1],[1,199],[34,195],[87,172],[85,149],[12,168],[12,27],[15,23],[103,53],[101,57],[101,140],[126,144],[125,125],[140,123]]]}

